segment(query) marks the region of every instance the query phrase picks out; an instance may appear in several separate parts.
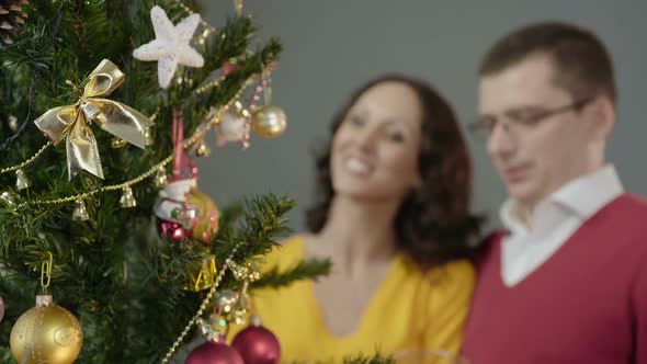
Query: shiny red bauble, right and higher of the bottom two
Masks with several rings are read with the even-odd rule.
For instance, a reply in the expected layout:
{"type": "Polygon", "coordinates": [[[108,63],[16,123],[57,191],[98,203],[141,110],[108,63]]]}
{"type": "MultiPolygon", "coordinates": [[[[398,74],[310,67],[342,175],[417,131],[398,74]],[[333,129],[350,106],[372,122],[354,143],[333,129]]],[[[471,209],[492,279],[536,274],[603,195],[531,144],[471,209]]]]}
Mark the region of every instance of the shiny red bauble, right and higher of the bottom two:
{"type": "Polygon", "coordinates": [[[245,361],[245,364],[276,364],[281,361],[281,344],[272,331],[265,329],[259,321],[240,331],[231,346],[245,361]]]}

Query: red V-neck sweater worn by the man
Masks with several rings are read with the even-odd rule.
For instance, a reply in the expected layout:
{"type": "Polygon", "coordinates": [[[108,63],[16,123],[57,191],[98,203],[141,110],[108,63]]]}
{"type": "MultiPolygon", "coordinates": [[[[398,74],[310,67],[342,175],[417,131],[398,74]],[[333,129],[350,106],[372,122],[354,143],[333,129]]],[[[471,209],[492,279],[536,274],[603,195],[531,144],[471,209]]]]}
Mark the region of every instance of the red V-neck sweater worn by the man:
{"type": "Polygon", "coordinates": [[[472,364],[647,364],[647,202],[609,203],[544,264],[501,281],[501,238],[478,264],[472,364]]]}

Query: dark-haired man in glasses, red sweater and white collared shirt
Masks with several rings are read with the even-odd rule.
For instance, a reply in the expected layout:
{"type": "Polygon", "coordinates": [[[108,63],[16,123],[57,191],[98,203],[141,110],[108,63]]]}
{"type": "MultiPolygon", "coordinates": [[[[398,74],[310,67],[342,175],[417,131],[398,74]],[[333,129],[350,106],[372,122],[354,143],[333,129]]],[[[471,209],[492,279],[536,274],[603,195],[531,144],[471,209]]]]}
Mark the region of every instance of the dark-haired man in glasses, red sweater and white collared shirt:
{"type": "Polygon", "coordinates": [[[581,27],[545,22],[496,43],[474,128],[508,187],[463,352],[475,364],[647,364],[647,202],[605,148],[611,57],[581,27]]]}

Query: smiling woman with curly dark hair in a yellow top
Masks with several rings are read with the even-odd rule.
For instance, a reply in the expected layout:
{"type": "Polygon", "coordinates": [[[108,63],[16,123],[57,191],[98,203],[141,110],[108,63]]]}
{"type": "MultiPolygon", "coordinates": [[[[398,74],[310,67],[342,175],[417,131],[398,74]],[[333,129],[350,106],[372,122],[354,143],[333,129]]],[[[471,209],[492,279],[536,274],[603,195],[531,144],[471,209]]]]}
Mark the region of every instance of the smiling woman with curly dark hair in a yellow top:
{"type": "Polygon", "coordinates": [[[286,240],[263,270],[317,258],[332,272],[252,296],[281,362],[457,352],[480,218],[469,213],[470,160],[451,106],[420,80],[386,76],[352,95],[331,132],[310,232],[286,240]]]}

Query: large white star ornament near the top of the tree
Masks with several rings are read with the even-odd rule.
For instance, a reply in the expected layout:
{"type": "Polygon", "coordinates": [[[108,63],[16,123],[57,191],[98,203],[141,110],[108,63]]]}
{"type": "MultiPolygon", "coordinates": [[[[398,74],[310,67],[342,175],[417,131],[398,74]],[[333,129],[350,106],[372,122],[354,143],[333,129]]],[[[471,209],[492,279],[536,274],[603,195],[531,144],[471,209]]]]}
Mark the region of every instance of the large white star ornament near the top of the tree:
{"type": "Polygon", "coordinates": [[[169,87],[178,65],[189,67],[204,66],[204,58],[190,42],[200,22],[200,14],[189,15],[178,25],[173,25],[160,7],[150,10],[150,20],[155,31],[155,41],[133,50],[133,57],[139,60],[157,60],[157,78],[162,89],[169,87]]]}

